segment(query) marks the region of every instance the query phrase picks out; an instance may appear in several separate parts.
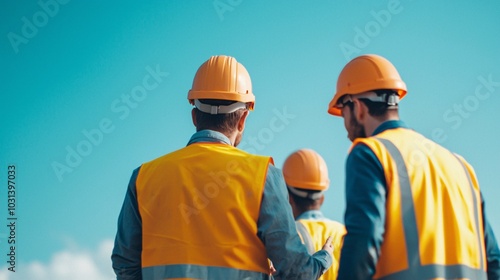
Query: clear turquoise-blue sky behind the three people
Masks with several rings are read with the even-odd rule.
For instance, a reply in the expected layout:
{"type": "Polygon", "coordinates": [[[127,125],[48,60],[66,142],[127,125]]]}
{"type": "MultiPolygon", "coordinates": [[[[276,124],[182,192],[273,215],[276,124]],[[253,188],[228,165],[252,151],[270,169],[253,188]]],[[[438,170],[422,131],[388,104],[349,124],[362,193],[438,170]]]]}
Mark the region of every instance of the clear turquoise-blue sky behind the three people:
{"type": "Polygon", "coordinates": [[[187,91],[216,54],[252,77],[241,148],[279,167],[296,149],[318,151],[332,181],[323,210],[339,221],[350,142],[327,105],[350,58],[387,57],[408,85],[402,119],[475,167],[498,237],[499,10],[494,0],[2,1],[0,218],[12,164],[18,272],[7,271],[2,226],[0,279],[112,279],[131,172],[186,144],[187,91]]]}

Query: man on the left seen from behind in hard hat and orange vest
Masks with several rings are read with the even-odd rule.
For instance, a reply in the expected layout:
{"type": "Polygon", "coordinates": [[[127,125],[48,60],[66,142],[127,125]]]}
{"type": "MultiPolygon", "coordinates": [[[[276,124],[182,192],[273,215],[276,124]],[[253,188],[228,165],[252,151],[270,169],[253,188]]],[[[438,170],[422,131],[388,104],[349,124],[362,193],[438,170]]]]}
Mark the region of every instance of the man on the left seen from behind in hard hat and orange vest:
{"type": "Polygon", "coordinates": [[[118,218],[118,279],[317,279],[331,240],[310,255],[296,232],[281,171],[236,148],[255,96],[229,56],[203,63],[188,94],[196,133],[137,168],[118,218]]]}

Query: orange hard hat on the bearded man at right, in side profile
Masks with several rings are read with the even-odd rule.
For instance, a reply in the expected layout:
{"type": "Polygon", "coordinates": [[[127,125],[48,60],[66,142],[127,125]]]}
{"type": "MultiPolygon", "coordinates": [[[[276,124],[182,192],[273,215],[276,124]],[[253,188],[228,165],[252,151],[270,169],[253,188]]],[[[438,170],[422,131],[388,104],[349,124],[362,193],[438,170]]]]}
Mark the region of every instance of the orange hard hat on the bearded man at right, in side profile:
{"type": "Polygon", "coordinates": [[[342,115],[337,105],[340,98],[346,94],[356,95],[380,89],[394,90],[399,99],[406,95],[406,84],[389,60],[375,54],[358,56],[347,63],[340,72],[337,92],[328,105],[328,113],[342,115]]]}

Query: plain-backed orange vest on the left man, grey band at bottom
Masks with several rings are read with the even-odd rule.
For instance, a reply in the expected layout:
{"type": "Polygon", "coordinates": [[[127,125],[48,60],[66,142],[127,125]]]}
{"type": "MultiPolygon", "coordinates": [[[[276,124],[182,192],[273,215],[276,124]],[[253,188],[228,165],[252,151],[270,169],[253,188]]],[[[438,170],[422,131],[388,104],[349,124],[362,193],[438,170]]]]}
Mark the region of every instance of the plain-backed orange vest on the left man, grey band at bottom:
{"type": "Polygon", "coordinates": [[[194,143],[137,177],[145,279],[265,279],[257,220],[270,157],[194,143]]]}

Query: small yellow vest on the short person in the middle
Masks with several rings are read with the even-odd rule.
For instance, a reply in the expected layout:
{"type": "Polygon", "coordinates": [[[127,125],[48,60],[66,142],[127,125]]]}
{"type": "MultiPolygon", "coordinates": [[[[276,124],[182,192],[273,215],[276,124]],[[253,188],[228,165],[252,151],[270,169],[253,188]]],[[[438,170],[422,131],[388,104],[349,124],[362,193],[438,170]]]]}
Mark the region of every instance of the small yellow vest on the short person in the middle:
{"type": "Polygon", "coordinates": [[[343,224],[329,219],[299,219],[296,221],[297,231],[310,254],[323,248],[326,239],[332,237],[332,266],[318,280],[337,279],[340,261],[340,251],[345,235],[343,224]]]}

